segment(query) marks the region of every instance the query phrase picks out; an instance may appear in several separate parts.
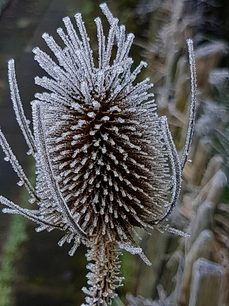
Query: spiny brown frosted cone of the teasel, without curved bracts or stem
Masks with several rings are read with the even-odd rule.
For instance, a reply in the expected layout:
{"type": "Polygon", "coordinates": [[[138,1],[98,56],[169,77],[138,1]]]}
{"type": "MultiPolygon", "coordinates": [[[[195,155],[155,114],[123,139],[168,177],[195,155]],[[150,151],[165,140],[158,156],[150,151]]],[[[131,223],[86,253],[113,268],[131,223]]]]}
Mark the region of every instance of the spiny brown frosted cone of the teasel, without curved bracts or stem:
{"type": "MultiPolygon", "coordinates": [[[[64,69],[39,48],[33,50],[53,77],[35,78],[53,93],[36,94],[39,101],[33,102],[34,108],[39,104],[51,168],[79,226],[89,237],[102,234],[112,241],[132,241],[134,226],[146,228],[160,217],[170,187],[164,179],[168,169],[160,121],[148,92],[152,84],[148,78],[132,84],[146,63],[131,72],[128,51],[133,34],[126,36],[116,18],[107,45],[101,19],[95,19],[99,41],[95,67],[81,15],[75,17],[82,41],[68,18],[64,22],[69,36],[58,29],[65,49],[43,34],[64,69]],[[117,51],[110,64],[114,38],[117,51]]],[[[40,179],[37,186],[42,198],[40,179]]]]}

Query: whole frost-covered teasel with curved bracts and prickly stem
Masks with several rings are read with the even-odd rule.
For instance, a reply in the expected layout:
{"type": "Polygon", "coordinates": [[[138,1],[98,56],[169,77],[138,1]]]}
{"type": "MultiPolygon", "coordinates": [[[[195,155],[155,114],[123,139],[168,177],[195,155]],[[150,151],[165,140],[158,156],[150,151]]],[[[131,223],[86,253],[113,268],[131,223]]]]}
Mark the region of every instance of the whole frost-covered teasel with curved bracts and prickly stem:
{"type": "Polygon", "coordinates": [[[35,60],[50,75],[35,77],[35,83],[49,92],[36,93],[32,101],[33,133],[24,115],[17,87],[14,61],[8,63],[11,99],[17,122],[36,162],[36,187],[30,184],[0,131],[0,144],[19,177],[36,201],[37,210],[23,209],[0,196],[8,208],[4,213],[20,214],[39,224],[37,232],[58,228],[65,231],[59,241],[73,241],[73,255],[83,242],[88,247],[87,275],[89,306],[107,305],[115,297],[120,249],[138,254],[150,265],[136,245],[135,227],[166,230],[162,225],[174,209],[181,189],[181,175],[192,141],[196,107],[196,72],[192,40],[187,40],[191,70],[191,109],[186,144],[180,161],[166,116],[158,117],[149,89],[149,78],[133,85],[141,61],[131,72],[128,56],[134,35],[118,26],[106,3],[100,5],[110,30],[106,38],[102,21],[95,19],[98,36],[98,65],[94,64],[89,38],[80,13],[75,15],[81,35],[70,18],[63,18],[67,34],[57,33],[62,49],[52,36],[43,34],[59,61],[38,47],[35,60]],[[113,46],[116,56],[111,63],[113,46]],[[171,165],[170,168],[168,165],[171,165]],[[171,194],[168,202],[168,196],[171,194]]]}

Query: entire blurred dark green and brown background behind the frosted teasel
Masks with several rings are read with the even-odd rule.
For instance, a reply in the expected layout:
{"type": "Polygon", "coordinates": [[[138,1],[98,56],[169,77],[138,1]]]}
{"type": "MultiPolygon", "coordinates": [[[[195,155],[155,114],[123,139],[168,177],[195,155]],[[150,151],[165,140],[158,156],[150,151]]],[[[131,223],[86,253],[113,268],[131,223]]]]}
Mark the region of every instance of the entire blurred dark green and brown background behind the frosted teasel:
{"type": "MultiPolygon", "coordinates": [[[[0,125],[31,181],[34,164],[14,118],[7,83],[7,61],[15,59],[25,113],[41,90],[33,83],[44,72],[33,60],[35,46],[48,52],[44,31],[57,41],[62,17],[81,12],[94,58],[97,35],[94,18],[102,16],[100,0],[1,0],[0,125]]],[[[186,39],[194,40],[198,107],[191,163],[183,173],[182,196],[169,222],[191,235],[139,231],[141,247],[152,262],[123,252],[124,286],[115,306],[229,305],[229,1],[108,0],[110,9],[135,35],[130,56],[148,67],[155,84],[159,115],[168,117],[178,150],[188,126],[190,80],[186,39]]],[[[109,26],[103,17],[105,31],[109,26]]],[[[134,68],[133,65],[133,68],[134,68]]],[[[0,194],[24,207],[28,196],[0,152],[0,194]]],[[[86,286],[85,247],[73,258],[68,246],[57,245],[60,233],[34,231],[20,216],[0,214],[0,306],[79,306],[86,286]]]]}

